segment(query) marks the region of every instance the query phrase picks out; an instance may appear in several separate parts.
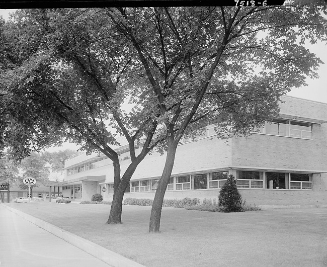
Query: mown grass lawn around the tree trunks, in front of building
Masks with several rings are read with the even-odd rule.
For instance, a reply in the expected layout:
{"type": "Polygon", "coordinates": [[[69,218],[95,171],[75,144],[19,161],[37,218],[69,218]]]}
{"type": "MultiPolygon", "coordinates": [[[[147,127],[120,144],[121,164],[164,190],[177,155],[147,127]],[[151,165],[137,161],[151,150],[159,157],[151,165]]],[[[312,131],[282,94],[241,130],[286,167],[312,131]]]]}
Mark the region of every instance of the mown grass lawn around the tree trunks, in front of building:
{"type": "Polygon", "coordinates": [[[146,266],[327,266],[323,208],[241,213],[162,208],[161,232],[149,233],[146,206],[123,206],[123,224],[107,225],[110,205],[8,205],[146,266]]]}

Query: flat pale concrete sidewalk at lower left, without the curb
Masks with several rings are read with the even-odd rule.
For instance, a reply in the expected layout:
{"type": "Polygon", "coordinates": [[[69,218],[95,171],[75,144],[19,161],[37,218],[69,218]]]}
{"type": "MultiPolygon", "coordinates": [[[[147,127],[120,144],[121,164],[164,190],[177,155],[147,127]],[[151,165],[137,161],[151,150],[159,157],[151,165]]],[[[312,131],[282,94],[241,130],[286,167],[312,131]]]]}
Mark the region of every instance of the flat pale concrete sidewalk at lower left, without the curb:
{"type": "Polygon", "coordinates": [[[108,267],[109,265],[0,204],[1,267],[108,267]]]}

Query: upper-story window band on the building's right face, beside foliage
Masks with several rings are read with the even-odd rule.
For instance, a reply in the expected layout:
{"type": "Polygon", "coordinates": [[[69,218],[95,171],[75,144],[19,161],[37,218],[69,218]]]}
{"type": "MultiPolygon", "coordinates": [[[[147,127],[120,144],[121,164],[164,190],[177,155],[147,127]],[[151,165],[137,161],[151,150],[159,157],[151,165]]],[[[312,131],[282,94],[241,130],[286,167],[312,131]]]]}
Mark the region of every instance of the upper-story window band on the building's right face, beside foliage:
{"type": "Polygon", "coordinates": [[[271,135],[312,139],[312,123],[273,119],[271,122],[266,122],[265,126],[260,129],[260,132],[271,135]]]}

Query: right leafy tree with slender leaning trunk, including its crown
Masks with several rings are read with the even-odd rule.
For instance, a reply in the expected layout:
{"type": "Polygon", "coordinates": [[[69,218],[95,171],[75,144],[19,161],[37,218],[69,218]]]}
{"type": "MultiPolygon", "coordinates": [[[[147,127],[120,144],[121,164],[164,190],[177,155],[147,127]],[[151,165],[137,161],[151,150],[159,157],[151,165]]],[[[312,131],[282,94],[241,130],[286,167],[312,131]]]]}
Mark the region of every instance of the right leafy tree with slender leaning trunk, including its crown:
{"type": "Polygon", "coordinates": [[[282,7],[110,8],[107,13],[134,47],[142,66],[138,77],[152,88],[166,131],[166,164],[149,224],[150,232],[158,232],[183,134],[200,131],[206,118],[216,124],[218,138],[247,136],[276,116],[281,95],[304,85],[306,75],[316,77],[321,61],[302,44],[326,40],[321,16],[326,7],[322,1],[294,1],[282,7]]]}

